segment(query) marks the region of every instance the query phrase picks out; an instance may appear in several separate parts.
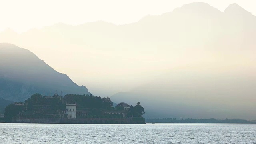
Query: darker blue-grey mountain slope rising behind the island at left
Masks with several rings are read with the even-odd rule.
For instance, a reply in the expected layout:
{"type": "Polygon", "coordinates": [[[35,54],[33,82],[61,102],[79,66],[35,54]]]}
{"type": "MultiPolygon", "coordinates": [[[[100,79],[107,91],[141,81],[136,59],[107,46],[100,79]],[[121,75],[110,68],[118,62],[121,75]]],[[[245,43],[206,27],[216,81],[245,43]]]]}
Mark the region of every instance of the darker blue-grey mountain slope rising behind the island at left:
{"type": "Polygon", "coordinates": [[[0,98],[23,101],[34,93],[90,94],[35,54],[13,44],[0,43],[0,98]]]}

